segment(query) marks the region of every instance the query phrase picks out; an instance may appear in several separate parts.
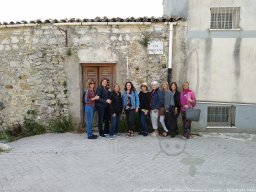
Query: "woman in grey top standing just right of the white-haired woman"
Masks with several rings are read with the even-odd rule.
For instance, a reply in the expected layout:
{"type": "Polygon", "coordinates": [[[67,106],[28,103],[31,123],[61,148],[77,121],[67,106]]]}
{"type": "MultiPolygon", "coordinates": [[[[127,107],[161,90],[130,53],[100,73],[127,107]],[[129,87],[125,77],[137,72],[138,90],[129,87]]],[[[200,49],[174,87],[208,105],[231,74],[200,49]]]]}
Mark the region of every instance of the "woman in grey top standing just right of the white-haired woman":
{"type": "Polygon", "coordinates": [[[164,109],[165,109],[165,116],[164,116],[164,122],[166,127],[168,128],[163,132],[163,136],[167,136],[168,130],[171,131],[171,115],[172,115],[172,110],[174,108],[174,99],[173,99],[173,94],[169,89],[169,84],[167,81],[163,82],[162,84],[162,89],[164,93],[164,109]]]}

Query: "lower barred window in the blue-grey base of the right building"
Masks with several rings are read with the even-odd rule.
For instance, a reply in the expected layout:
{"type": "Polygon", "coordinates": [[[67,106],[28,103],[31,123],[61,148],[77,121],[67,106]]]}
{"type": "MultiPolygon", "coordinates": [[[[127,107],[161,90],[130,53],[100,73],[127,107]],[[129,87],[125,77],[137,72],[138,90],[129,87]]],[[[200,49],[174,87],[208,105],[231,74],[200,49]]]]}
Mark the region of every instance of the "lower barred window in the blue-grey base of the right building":
{"type": "Polygon", "coordinates": [[[208,127],[234,127],[235,106],[209,106],[207,112],[208,127]]]}

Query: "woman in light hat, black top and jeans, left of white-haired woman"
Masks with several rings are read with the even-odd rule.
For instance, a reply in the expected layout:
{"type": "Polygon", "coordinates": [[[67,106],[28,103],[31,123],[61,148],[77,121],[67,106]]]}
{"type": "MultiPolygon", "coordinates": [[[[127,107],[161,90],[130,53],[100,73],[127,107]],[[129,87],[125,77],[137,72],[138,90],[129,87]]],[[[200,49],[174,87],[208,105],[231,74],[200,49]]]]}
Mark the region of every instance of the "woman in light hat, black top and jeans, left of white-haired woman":
{"type": "Polygon", "coordinates": [[[140,125],[142,130],[139,132],[139,135],[147,136],[148,135],[148,123],[147,117],[150,111],[150,93],[148,92],[147,83],[142,83],[140,86],[139,100],[140,100],[140,125]]]}

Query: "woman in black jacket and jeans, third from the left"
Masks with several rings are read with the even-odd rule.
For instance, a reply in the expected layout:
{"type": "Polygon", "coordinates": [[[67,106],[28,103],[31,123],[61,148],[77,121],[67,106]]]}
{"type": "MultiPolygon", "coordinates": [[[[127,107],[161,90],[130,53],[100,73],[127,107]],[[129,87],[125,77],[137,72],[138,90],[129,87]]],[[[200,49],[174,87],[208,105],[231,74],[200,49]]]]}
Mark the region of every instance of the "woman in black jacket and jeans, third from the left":
{"type": "Polygon", "coordinates": [[[111,115],[111,127],[109,132],[110,139],[114,139],[114,135],[118,133],[120,124],[120,115],[122,113],[122,96],[120,93],[120,86],[114,85],[114,90],[111,92],[111,104],[109,106],[111,115]]]}

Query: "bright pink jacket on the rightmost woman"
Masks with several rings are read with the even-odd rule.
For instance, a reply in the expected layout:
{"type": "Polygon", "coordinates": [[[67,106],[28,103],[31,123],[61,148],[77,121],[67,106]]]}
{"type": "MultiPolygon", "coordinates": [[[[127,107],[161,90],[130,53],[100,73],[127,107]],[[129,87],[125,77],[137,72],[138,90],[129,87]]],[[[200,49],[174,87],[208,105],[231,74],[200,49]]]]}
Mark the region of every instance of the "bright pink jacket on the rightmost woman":
{"type": "Polygon", "coordinates": [[[183,90],[180,94],[180,104],[181,104],[181,111],[185,112],[186,108],[193,108],[196,105],[196,95],[195,93],[188,89],[183,90]],[[191,99],[192,102],[189,102],[188,99],[191,99]],[[187,107],[185,107],[187,105],[187,107]]]}

